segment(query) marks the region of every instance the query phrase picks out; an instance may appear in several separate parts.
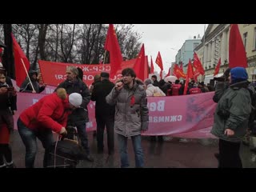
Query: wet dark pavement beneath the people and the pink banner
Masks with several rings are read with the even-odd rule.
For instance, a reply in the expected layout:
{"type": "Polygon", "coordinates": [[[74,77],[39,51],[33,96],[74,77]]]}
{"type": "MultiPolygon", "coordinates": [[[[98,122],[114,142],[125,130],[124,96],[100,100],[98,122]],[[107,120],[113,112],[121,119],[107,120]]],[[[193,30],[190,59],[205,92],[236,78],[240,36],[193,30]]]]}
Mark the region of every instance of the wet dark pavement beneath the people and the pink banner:
{"type": "MultiPolygon", "coordinates": [[[[118,168],[120,159],[118,147],[115,146],[113,155],[108,155],[107,147],[103,154],[97,153],[97,141],[93,137],[93,132],[88,133],[91,155],[94,162],[86,160],[78,163],[78,168],[118,168]]],[[[106,146],[106,135],[105,146],[106,146]]],[[[148,137],[142,137],[142,148],[145,156],[146,168],[216,168],[218,162],[214,158],[214,153],[218,152],[218,141],[216,139],[188,139],[181,142],[179,138],[168,139],[164,142],[152,142],[148,137]]],[[[115,143],[118,142],[115,140],[115,143]]],[[[242,163],[245,168],[256,168],[256,156],[251,153],[249,146],[241,145],[242,163]]],[[[25,146],[18,134],[14,131],[13,159],[18,168],[25,167],[25,146]]],[[[38,141],[38,153],[34,166],[42,168],[42,158],[44,150],[41,142],[38,141]]],[[[128,139],[128,154],[130,167],[134,167],[134,151],[131,139],[128,139]]]]}

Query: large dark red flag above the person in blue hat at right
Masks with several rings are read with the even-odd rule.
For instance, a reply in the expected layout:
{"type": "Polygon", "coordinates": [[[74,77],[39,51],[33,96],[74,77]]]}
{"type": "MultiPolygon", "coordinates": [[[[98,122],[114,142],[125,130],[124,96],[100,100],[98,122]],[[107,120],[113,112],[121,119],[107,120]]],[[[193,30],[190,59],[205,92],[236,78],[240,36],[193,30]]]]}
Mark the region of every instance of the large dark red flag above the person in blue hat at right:
{"type": "Polygon", "coordinates": [[[238,24],[231,24],[229,42],[229,67],[242,66],[246,68],[246,49],[242,43],[242,37],[238,29],[238,24]]]}

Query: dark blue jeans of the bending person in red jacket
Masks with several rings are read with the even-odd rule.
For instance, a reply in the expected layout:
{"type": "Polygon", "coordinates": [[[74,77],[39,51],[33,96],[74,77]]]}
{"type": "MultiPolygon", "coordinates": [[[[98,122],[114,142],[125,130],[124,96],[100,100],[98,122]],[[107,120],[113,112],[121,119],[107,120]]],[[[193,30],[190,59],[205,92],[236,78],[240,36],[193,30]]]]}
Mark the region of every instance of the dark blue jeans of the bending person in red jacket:
{"type": "Polygon", "coordinates": [[[45,155],[43,159],[43,167],[47,166],[47,154],[48,149],[54,142],[53,134],[50,129],[43,130],[30,130],[23,122],[18,118],[17,122],[18,133],[22,138],[22,142],[26,146],[25,166],[26,168],[34,168],[34,159],[38,150],[37,139],[42,142],[42,146],[45,148],[45,155]]]}

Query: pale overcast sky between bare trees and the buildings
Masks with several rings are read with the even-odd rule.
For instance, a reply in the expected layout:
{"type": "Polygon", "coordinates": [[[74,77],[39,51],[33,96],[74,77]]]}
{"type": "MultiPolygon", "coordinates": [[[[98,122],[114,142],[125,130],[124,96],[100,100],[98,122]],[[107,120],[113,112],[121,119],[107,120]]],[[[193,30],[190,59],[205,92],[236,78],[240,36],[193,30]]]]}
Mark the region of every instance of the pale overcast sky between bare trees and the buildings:
{"type": "Polygon", "coordinates": [[[194,36],[198,37],[198,34],[202,38],[204,26],[205,24],[134,24],[134,30],[142,34],[141,41],[145,46],[145,54],[148,55],[149,61],[150,55],[152,56],[154,70],[160,71],[155,64],[158,51],[160,51],[163,68],[167,73],[185,40],[194,36]]]}

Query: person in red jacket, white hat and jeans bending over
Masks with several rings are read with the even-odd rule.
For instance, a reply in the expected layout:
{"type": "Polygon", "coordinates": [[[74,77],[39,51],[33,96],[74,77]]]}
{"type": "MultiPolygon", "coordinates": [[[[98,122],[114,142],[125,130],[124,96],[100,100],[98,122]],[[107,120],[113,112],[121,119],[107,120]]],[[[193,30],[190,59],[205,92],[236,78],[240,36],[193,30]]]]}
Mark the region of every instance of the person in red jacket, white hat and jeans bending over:
{"type": "Polygon", "coordinates": [[[26,146],[25,166],[34,167],[38,138],[45,148],[43,166],[46,167],[47,149],[54,142],[52,131],[66,134],[66,121],[70,111],[82,103],[81,94],[66,94],[63,88],[40,99],[22,112],[18,118],[18,133],[26,146]]]}

